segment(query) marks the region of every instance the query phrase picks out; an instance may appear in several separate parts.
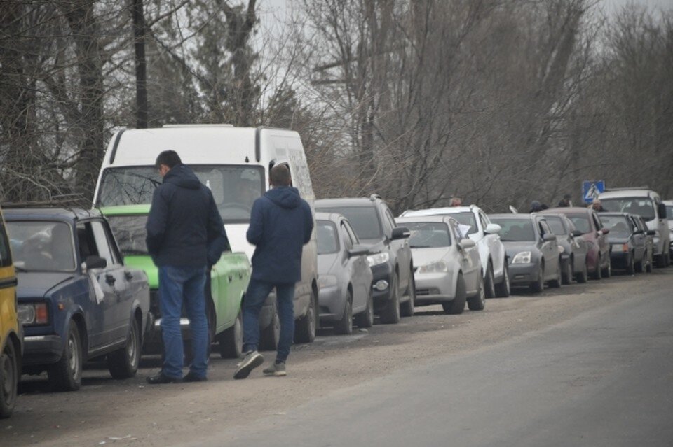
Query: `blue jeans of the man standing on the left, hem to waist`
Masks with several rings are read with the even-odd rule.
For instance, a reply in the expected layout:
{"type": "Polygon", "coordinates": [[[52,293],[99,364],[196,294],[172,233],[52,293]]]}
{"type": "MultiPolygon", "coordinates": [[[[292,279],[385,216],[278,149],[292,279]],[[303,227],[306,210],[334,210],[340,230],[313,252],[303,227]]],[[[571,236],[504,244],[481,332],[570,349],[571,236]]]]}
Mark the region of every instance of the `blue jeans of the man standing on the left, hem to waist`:
{"type": "Polygon", "coordinates": [[[159,267],[159,306],[163,339],[163,374],[182,377],[182,304],[189,318],[193,360],[189,370],[205,377],[208,369],[208,320],[205,316],[205,266],[159,267]]]}

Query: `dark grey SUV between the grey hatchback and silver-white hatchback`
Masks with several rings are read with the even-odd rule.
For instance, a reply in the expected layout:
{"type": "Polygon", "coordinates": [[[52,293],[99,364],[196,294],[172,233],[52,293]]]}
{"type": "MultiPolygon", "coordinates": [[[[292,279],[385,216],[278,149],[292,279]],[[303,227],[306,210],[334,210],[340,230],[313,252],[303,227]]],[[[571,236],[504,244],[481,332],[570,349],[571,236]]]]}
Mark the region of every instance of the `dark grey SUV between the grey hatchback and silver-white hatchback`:
{"type": "Polygon", "coordinates": [[[397,323],[400,315],[414,314],[414,264],[407,238],[409,229],[397,227],[393,213],[381,197],[321,199],[315,211],[346,216],[360,243],[369,246],[374,311],[383,323],[397,323]]]}

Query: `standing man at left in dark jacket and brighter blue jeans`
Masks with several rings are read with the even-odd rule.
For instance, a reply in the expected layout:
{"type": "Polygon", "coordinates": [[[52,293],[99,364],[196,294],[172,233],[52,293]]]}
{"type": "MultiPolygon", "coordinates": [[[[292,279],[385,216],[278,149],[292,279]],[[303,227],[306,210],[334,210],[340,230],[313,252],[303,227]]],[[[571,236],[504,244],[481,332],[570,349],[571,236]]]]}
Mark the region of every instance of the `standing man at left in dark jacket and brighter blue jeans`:
{"type": "Polygon", "coordinates": [[[182,164],[174,150],[156,158],[163,183],[154,190],[147,218],[147,251],[159,273],[159,306],[164,362],[149,383],[199,382],[208,370],[208,320],[205,314],[207,266],[228,246],[222,217],[212,193],[182,164]],[[193,360],[182,377],[182,304],[189,317],[193,360]]]}

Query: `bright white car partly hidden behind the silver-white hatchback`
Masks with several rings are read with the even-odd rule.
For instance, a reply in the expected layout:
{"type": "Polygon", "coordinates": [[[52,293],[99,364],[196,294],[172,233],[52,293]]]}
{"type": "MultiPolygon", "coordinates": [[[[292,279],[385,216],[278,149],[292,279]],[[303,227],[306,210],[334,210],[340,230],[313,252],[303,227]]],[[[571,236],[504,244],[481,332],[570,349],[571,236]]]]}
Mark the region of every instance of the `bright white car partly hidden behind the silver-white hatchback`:
{"type": "Polygon", "coordinates": [[[451,215],[465,229],[469,227],[467,236],[477,243],[479,249],[486,296],[489,298],[510,296],[510,276],[505,260],[505,247],[498,235],[500,225],[491,223],[482,208],[470,205],[407,210],[400,217],[421,215],[451,215]]]}

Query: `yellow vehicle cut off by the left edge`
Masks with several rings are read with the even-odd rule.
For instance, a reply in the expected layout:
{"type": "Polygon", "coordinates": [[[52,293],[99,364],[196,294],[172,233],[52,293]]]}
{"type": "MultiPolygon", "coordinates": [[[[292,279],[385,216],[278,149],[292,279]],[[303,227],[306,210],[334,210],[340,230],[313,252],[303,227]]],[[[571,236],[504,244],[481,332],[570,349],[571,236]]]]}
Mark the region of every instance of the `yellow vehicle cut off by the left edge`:
{"type": "Polygon", "coordinates": [[[16,315],[16,275],[0,213],[0,418],[11,416],[21,374],[22,327],[16,315]]]}

